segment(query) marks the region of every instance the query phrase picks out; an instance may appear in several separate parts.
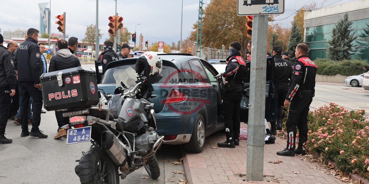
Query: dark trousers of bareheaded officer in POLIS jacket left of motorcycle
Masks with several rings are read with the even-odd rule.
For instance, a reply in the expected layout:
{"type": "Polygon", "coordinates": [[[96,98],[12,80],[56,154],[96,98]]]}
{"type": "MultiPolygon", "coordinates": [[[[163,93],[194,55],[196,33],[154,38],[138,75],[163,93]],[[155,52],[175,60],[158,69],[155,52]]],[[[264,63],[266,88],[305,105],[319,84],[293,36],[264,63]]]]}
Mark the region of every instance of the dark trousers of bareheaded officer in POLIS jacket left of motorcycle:
{"type": "Polygon", "coordinates": [[[22,131],[28,131],[28,104],[30,103],[30,97],[33,99],[32,103],[32,129],[31,132],[38,132],[41,122],[41,109],[42,109],[42,90],[34,86],[33,82],[20,81],[19,82],[22,97],[21,100],[21,114],[20,123],[22,125],[22,131]]]}

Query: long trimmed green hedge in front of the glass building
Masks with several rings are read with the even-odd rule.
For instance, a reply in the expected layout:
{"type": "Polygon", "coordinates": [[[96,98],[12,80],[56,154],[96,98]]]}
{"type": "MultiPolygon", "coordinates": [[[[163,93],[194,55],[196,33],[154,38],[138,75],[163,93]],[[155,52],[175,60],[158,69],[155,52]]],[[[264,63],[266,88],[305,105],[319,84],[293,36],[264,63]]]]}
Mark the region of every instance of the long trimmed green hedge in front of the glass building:
{"type": "Polygon", "coordinates": [[[314,63],[318,67],[317,74],[319,75],[360,75],[363,67],[369,68],[369,63],[362,60],[332,61],[318,58],[314,60],[314,63]]]}

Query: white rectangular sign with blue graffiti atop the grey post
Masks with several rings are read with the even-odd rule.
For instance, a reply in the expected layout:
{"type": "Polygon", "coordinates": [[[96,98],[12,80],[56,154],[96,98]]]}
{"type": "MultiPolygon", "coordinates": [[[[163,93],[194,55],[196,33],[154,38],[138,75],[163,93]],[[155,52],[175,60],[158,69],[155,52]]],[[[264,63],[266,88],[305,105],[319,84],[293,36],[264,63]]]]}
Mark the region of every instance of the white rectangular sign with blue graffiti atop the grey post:
{"type": "Polygon", "coordinates": [[[284,0],[237,0],[237,15],[272,15],[284,13],[284,0]]]}

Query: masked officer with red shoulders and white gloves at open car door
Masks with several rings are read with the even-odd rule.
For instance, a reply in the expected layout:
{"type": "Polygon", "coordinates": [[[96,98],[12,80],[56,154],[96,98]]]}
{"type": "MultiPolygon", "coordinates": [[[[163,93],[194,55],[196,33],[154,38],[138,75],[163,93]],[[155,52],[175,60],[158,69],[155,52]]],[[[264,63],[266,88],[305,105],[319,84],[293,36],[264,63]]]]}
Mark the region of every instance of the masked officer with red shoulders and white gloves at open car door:
{"type": "Polygon", "coordinates": [[[219,147],[235,148],[239,145],[239,108],[244,90],[246,64],[241,57],[241,43],[232,42],[229,48],[225,72],[215,77],[222,77],[225,94],[223,96],[222,111],[225,120],[225,136],[227,140],[218,143],[219,147]]]}

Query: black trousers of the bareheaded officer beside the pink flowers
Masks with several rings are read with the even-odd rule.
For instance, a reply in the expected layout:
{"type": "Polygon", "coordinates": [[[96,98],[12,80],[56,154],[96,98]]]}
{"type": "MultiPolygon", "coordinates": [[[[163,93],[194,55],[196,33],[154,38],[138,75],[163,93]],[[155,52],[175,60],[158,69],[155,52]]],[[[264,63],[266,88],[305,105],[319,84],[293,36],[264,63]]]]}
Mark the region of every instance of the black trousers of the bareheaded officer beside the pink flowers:
{"type": "Polygon", "coordinates": [[[299,95],[294,96],[290,103],[286,123],[287,134],[293,132],[293,136],[296,138],[296,127],[299,128],[299,147],[302,147],[307,141],[307,116],[312,101],[313,93],[311,90],[301,90],[299,95]]]}

